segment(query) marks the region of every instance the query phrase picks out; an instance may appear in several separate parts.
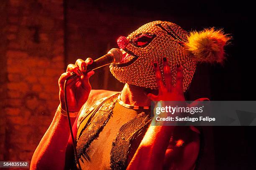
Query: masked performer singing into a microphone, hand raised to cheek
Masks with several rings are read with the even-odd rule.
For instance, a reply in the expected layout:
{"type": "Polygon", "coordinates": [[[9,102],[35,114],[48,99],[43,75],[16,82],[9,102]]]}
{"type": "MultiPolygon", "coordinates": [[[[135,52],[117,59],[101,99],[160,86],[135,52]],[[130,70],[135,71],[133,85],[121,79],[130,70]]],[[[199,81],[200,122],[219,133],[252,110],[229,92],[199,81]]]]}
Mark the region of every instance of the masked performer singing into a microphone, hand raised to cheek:
{"type": "MultiPolygon", "coordinates": [[[[125,83],[121,92],[91,90],[92,59],[69,64],[59,78],[60,105],[31,160],[31,169],[87,170],[192,170],[198,166],[200,129],[189,126],[150,126],[151,100],[184,101],[197,62],[225,59],[229,40],[221,30],[205,29],[188,34],[178,25],[154,21],[128,37],[120,37],[123,52],[110,71],[125,83]],[[74,158],[64,104],[64,81],[76,137],[74,158]]],[[[207,100],[201,98],[198,100],[207,100]]]]}

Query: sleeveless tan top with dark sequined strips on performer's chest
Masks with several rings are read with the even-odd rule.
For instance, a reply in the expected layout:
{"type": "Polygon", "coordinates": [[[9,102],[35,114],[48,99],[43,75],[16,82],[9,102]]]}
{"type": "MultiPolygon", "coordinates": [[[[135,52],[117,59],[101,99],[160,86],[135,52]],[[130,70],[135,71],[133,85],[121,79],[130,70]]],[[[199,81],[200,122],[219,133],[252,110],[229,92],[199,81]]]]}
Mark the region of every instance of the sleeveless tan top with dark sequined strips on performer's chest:
{"type": "MultiPolygon", "coordinates": [[[[117,96],[98,102],[95,112],[89,110],[94,113],[92,118],[79,123],[77,153],[84,170],[126,169],[150,125],[149,110],[125,108],[116,102],[117,96]]],[[[176,127],[168,148],[182,153],[180,151],[184,146],[197,140],[195,136],[189,127],[176,127]]],[[[175,161],[179,158],[182,155],[172,159],[175,161]]]]}

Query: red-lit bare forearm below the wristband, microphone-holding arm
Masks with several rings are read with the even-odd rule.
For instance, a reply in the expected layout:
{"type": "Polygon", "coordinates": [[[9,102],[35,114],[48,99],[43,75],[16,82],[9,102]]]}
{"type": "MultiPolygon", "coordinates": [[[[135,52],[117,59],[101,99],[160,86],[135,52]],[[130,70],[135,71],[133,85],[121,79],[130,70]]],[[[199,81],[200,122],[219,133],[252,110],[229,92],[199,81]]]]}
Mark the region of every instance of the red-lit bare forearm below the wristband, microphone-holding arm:
{"type": "MultiPolygon", "coordinates": [[[[75,118],[71,118],[72,125],[75,118]]],[[[51,125],[41,139],[31,160],[31,169],[63,170],[69,139],[67,117],[56,112],[51,125]]]]}

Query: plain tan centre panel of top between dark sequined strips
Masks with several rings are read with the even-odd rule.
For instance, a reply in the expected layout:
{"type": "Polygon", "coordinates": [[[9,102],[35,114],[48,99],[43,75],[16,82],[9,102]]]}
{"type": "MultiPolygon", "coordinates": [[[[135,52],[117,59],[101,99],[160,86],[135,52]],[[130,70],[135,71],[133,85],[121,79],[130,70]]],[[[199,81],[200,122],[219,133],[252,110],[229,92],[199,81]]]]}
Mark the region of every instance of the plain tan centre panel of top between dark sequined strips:
{"type": "Polygon", "coordinates": [[[90,161],[84,158],[80,160],[82,168],[84,170],[110,170],[110,152],[119,129],[139,113],[136,110],[125,108],[116,102],[108,123],[86,150],[90,161]]]}

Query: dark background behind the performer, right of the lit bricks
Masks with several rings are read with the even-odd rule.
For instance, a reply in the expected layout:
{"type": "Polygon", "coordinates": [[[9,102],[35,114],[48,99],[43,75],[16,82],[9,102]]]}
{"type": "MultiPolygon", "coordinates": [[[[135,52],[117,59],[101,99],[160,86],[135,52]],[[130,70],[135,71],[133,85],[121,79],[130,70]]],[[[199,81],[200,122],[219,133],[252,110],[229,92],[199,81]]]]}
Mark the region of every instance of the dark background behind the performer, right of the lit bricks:
{"type": "MultiPolygon", "coordinates": [[[[255,100],[253,54],[253,5],[246,1],[83,1],[67,0],[66,64],[78,56],[96,59],[113,47],[120,35],[127,36],[141,25],[166,20],[184,30],[223,28],[233,38],[225,48],[222,65],[199,64],[186,93],[188,100],[255,100]]],[[[91,78],[94,89],[121,90],[108,67],[91,78]]],[[[254,127],[213,127],[215,169],[255,169],[254,127]]],[[[213,158],[212,158],[213,157],[213,158]]],[[[207,159],[207,158],[206,158],[207,159]]],[[[210,166],[210,165],[209,165],[210,166]]],[[[210,167],[206,169],[210,169],[210,167]]]]}

